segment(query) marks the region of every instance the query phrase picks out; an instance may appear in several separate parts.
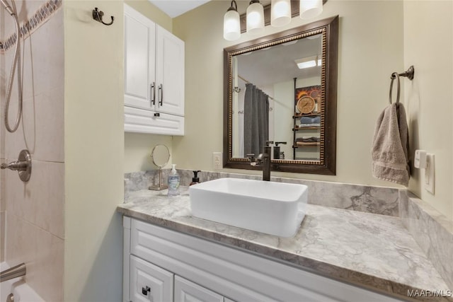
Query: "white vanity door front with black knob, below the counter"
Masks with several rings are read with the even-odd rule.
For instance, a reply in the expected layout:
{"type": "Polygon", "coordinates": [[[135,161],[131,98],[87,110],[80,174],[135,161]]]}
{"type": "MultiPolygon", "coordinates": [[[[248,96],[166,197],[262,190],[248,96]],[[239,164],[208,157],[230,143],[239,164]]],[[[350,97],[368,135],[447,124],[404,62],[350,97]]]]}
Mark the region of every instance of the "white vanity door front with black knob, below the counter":
{"type": "Polygon", "coordinates": [[[130,299],[133,302],[173,301],[173,274],[131,255],[130,299]]]}

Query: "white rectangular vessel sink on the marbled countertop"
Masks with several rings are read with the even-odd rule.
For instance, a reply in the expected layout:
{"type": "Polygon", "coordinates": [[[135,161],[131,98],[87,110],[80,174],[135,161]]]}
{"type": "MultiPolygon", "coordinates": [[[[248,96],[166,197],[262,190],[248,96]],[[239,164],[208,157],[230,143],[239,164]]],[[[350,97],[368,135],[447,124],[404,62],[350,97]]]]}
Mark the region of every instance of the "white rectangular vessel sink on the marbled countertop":
{"type": "Polygon", "coordinates": [[[304,219],[308,192],[306,185],[219,178],[190,186],[189,194],[197,218],[292,237],[304,219]]]}

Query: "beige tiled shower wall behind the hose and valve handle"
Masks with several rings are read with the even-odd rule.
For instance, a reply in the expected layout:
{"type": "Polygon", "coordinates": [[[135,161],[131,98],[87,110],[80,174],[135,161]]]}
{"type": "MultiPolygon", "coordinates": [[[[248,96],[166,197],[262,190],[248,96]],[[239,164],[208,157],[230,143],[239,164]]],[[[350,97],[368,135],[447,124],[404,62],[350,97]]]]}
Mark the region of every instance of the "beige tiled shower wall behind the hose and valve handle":
{"type": "MultiPolygon", "coordinates": [[[[30,35],[22,42],[23,120],[10,134],[0,125],[1,161],[16,161],[22,149],[32,156],[32,175],[22,182],[16,171],[1,172],[2,259],[25,262],[27,283],[45,300],[63,300],[64,270],[64,31],[61,0],[16,1],[30,35]],[[37,13],[38,12],[38,13],[37,13]],[[4,231],[5,230],[5,231],[4,231]],[[4,234],[3,234],[4,231],[4,234]],[[4,236],[4,238],[3,238],[4,236]]],[[[0,41],[13,35],[13,19],[0,16],[0,41]]],[[[6,43],[3,43],[6,45],[6,43]]],[[[13,48],[1,54],[1,108],[13,48]]],[[[16,87],[16,83],[15,86],[16,87]]],[[[17,91],[9,120],[16,119],[17,91]]],[[[2,112],[3,114],[3,112],[2,112]]]]}

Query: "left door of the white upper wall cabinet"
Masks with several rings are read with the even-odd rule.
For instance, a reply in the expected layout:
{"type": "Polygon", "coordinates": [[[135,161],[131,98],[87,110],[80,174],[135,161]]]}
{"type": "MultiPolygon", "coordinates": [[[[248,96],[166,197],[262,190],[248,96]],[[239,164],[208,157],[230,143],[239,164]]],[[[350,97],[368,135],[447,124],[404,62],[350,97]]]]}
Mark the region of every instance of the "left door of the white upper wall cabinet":
{"type": "Polygon", "coordinates": [[[125,5],[125,105],[154,110],[156,24],[125,5]]]}

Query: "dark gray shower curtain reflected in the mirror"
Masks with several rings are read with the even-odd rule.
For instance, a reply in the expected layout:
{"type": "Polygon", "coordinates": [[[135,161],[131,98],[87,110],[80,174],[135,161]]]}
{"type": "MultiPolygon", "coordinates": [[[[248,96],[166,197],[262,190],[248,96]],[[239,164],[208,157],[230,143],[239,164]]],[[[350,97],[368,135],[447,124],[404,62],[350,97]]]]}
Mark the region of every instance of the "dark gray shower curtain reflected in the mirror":
{"type": "Polygon", "coordinates": [[[258,156],[269,140],[269,95],[246,83],[243,100],[243,151],[258,156]]]}

